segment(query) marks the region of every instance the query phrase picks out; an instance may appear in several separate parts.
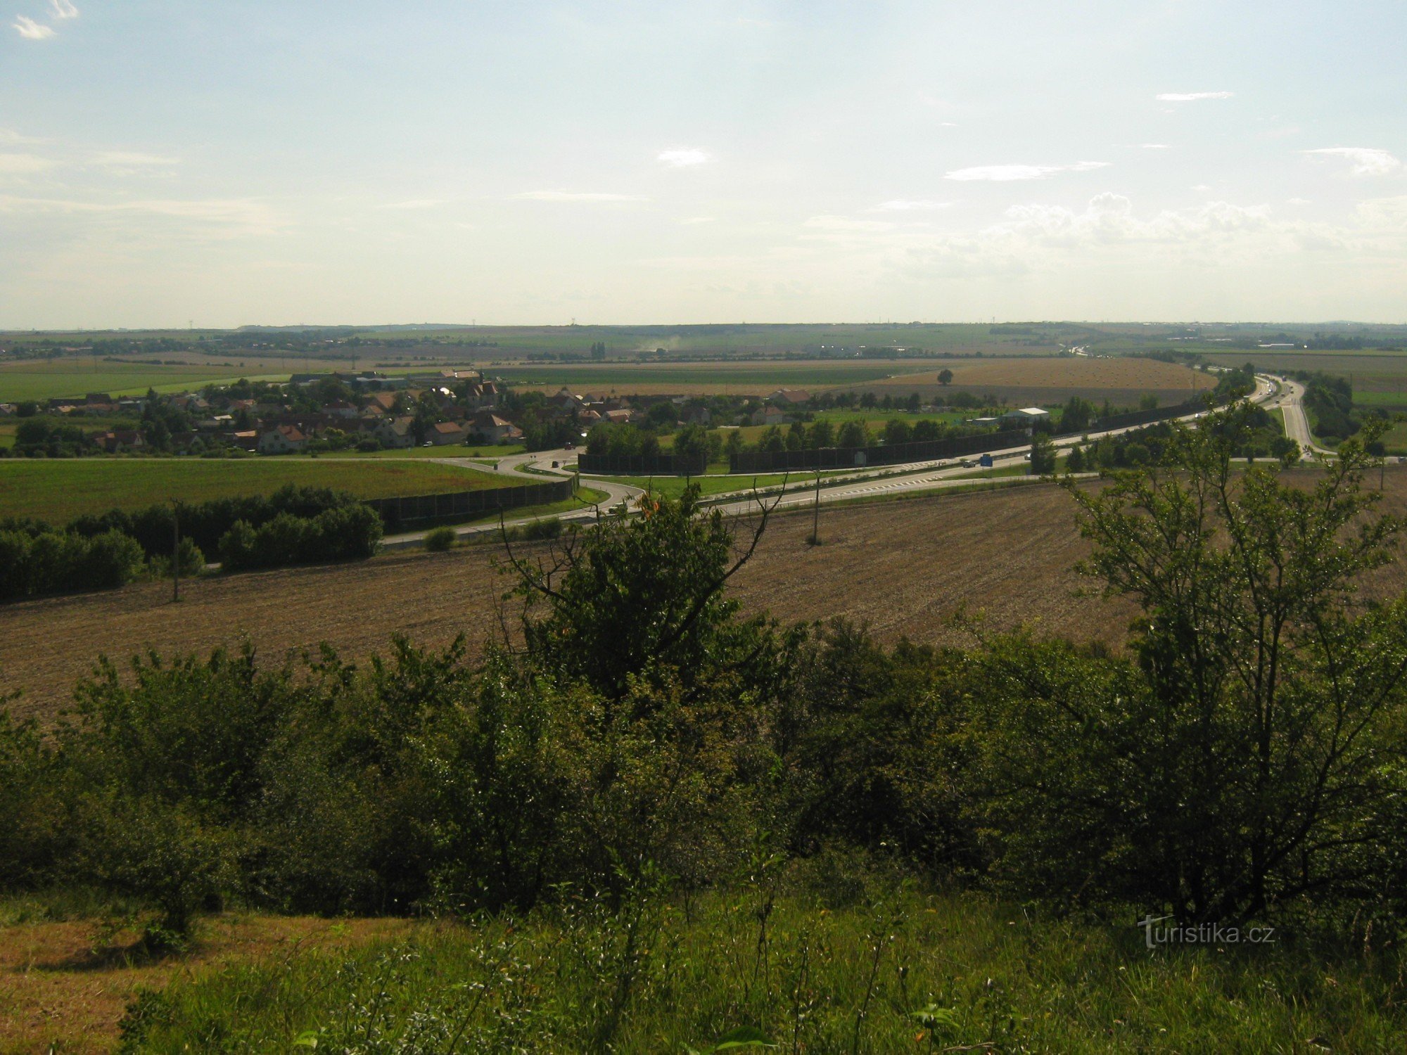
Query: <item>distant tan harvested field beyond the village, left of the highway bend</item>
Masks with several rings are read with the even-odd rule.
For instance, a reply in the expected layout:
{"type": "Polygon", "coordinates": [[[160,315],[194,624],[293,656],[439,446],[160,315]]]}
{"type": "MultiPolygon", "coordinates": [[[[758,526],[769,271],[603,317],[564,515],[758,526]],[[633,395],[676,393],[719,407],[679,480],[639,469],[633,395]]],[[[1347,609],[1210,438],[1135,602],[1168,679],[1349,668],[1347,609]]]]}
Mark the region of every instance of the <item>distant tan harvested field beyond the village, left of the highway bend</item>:
{"type": "Polygon", "coordinates": [[[1096,402],[1126,407],[1152,392],[1159,402],[1178,404],[1193,390],[1216,387],[1216,378],[1196,370],[1157,359],[979,359],[944,363],[922,373],[895,374],[879,381],[855,384],[850,391],[877,395],[924,398],[972,392],[995,395],[1009,404],[1048,405],[1082,395],[1096,402]],[[938,370],[953,371],[953,383],[938,384],[938,370]]]}

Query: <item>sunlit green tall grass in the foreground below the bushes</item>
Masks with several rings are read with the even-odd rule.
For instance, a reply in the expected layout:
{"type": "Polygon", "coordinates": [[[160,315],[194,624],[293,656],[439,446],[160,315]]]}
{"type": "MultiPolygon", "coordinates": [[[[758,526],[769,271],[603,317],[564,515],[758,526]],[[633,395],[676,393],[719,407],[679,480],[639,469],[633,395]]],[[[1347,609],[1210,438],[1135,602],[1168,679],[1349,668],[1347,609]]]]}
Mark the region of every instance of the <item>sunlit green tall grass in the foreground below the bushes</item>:
{"type": "MultiPolygon", "coordinates": [[[[836,883],[832,882],[830,892],[836,883]]],[[[146,995],[128,1051],[1401,1051],[1396,957],[1293,942],[1150,951],[1133,921],[1050,921],[978,896],[827,907],[764,888],[222,966],[146,995]],[[760,1041],[754,1040],[754,1045],[760,1041]],[[722,1049],[722,1048],[720,1048],[722,1049]],[[733,1049],[733,1048],[726,1048],[733,1049]]]]}

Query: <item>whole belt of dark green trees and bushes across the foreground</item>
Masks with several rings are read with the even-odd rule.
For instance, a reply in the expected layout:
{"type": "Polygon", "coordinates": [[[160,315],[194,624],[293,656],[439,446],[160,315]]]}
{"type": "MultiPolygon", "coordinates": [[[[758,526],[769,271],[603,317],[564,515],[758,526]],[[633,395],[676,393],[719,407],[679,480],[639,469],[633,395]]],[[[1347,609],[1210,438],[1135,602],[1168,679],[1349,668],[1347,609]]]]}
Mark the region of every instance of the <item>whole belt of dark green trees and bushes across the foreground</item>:
{"type": "Polygon", "coordinates": [[[522,644],[481,663],[152,657],[104,665],[51,737],[0,720],[0,883],[98,885],[179,930],[228,900],[619,904],[850,845],[1068,912],[1392,924],[1407,601],[1352,598],[1403,525],[1358,440],[1285,482],[1231,471],[1237,429],[1172,426],[1158,471],[1071,485],[1083,570],[1141,609],[1128,654],[744,618],[727,585],[767,513],[739,535],[646,498],[509,547],[522,644]]]}

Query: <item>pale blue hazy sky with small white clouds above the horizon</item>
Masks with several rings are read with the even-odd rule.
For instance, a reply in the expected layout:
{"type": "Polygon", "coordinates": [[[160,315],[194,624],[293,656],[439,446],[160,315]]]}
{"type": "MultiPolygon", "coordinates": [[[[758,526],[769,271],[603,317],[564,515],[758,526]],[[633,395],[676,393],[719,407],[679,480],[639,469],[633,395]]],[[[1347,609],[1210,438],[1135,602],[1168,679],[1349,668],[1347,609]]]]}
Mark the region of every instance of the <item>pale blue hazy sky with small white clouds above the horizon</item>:
{"type": "Polygon", "coordinates": [[[1404,322],[1401,0],[0,0],[0,328],[1404,322]]]}

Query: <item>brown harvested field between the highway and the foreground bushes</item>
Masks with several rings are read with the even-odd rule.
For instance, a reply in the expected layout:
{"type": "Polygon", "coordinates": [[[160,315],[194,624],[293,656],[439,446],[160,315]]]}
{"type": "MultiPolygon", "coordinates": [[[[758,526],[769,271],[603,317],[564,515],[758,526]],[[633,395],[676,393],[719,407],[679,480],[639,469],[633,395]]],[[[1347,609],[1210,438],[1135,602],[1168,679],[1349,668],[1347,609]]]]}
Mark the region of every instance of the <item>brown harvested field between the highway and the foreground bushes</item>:
{"type": "MultiPolygon", "coordinates": [[[[1407,511],[1407,468],[1387,474],[1389,508],[1407,511]]],[[[806,546],[810,512],[778,516],[737,577],[749,612],[782,620],[844,616],[877,636],[965,641],[947,620],[965,608],[992,629],[1021,623],[1079,640],[1123,640],[1130,605],[1075,596],[1089,584],[1071,568],[1086,553],[1071,499],[1057,487],[933,495],[823,509],[823,546],[806,546]]],[[[481,646],[499,634],[507,588],[495,546],[404,553],[362,564],[287,568],[170,587],[49,598],[0,608],[0,691],[23,689],[21,715],[51,717],[98,656],[124,658],[208,650],[249,633],[263,656],[328,641],[348,657],[386,651],[393,633],[445,644],[459,633],[481,646]]],[[[1407,588],[1407,565],[1379,573],[1377,588],[1407,588]]]]}

